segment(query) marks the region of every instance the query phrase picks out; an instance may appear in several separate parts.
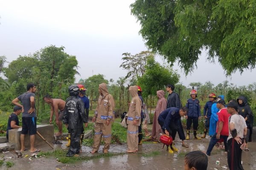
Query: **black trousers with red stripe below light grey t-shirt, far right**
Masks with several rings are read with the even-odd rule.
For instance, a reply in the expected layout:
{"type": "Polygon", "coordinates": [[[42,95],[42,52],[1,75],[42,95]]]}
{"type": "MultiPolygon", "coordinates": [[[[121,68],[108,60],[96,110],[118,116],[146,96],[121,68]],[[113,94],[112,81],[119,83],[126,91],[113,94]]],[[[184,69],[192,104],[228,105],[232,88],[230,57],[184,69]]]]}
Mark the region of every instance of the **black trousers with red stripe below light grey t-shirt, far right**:
{"type": "MultiPolygon", "coordinates": [[[[244,139],[241,139],[242,143],[244,139]]],[[[228,153],[227,153],[227,164],[230,170],[244,170],[241,164],[242,150],[240,149],[241,144],[238,144],[233,138],[227,141],[228,153]]]]}

